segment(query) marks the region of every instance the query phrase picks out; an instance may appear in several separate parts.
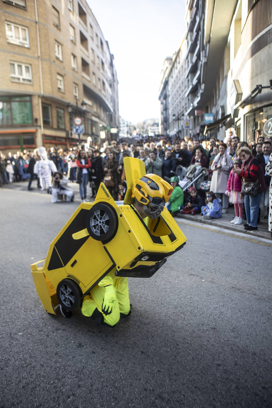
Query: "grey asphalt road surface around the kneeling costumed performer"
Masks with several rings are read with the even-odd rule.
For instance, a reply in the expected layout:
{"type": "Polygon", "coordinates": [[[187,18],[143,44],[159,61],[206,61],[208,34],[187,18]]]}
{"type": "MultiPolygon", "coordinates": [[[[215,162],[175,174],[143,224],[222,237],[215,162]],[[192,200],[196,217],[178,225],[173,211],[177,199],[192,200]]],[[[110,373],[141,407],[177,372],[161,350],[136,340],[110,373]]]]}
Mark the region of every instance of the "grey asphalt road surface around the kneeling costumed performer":
{"type": "Polygon", "coordinates": [[[130,317],[97,327],[47,315],[30,271],[78,203],[0,193],[0,407],[272,406],[271,247],[180,224],[130,317]]]}

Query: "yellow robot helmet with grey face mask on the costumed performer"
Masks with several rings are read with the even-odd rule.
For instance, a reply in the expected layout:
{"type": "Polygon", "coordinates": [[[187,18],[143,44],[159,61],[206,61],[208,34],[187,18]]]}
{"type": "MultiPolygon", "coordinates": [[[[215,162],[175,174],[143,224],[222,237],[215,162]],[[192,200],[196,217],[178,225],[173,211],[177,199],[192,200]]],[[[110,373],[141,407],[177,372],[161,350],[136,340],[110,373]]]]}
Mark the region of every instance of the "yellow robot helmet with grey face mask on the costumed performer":
{"type": "Polygon", "coordinates": [[[150,218],[159,217],[172,194],[173,187],[156,174],[146,174],[135,180],[132,193],[139,205],[144,206],[150,218]]]}

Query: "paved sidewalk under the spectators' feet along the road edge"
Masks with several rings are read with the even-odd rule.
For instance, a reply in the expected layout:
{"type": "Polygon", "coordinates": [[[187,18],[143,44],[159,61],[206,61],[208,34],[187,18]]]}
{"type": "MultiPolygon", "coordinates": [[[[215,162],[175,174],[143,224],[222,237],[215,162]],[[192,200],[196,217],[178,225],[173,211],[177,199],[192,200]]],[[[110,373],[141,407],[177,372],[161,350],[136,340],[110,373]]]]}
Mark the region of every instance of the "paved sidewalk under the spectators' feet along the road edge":
{"type": "MultiPolygon", "coordinates": [[[[34,188],[33,191],[28,191],[27,190],[28,187],[28,181],[22,181],[22,182],[14,182],[11,184],[3,184],[2,188],[11,188],[13,190],[18,190],[18,191],[27,191],[29,193],[29,195],[31,195],[32,193],[38,193],[38,194],[43,194],[46,200],[51,201],[51,195],[47,194],[47,191],[40,191],[39,188],[37,188],[37,180],[34,180],[32,183],[32,187],[34,188]]],[[[74,197],[74,201],[75,202],[79,202],[81,203],[81,197],[80,197],[80,193],[79,193],[79,185],[77,183],[69,183],[69,187],[71,187],[74,191],[75,197],[74,197]]],[[[92,195],[92,189],[87,186],[87,200],[93,202],[94,201],[94,197],[90,197],[92,195]]],[[[228,213],[227,214],[223,214],[221,218],[213,218],[211,220],[203,220],[203,217],[201,216],[201,214],[196,214],[196,215],[190,215],[190,214],[177,214],[177,217],[179,218],[185,218],[187,220],[192,220],[192,221],[196,221],[196,222],[201,222],[202,224],[209,224],[209,225],[213,225],[213,226],[217,226],[220,228],[225,228],[231,231],[236,231],[239,233],[244,233],[245,235],[252,235],[255,237],[259,237],[259,238],[265,238],[265,239],[271,239],[271,233],[270,231],[268,231],[268,219],[263,218],[264,214],[261,211],[261,219],[260,222],[258,224],[258,231],[245,231],[243,228],[243,224],[242,225],[234,225],[231,224],[230,221],[233,220],[234,218],[234,207],[229,207],[228,208],[228,213]]],[[[246,221],[245,221],[246,222],[246,221]]]]}

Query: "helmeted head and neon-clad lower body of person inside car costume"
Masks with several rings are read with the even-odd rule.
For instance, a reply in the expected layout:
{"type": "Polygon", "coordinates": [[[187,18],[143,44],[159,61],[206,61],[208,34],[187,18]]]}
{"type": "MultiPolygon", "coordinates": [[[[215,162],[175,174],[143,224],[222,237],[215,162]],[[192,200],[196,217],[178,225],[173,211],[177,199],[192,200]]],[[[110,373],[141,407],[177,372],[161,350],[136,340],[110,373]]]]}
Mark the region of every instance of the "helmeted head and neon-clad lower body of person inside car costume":
{"type": "MultiPolygon", "coordinates": [[[[181,188],[180,188],[181,189],[181,188]]],[[[132,208],[148,226],[157,219],[170,199],[173,188],[160,176],[146,174],[135,180],[131,189],[132,208]]],[[[181,190],[182,191],[182,190],[181,190]]],[[[130,315],[128,278],[115,276],[115,268],[91,289],[82,303],[82,314],[97,324],[115,326],[121,317],[130,315]]]]}

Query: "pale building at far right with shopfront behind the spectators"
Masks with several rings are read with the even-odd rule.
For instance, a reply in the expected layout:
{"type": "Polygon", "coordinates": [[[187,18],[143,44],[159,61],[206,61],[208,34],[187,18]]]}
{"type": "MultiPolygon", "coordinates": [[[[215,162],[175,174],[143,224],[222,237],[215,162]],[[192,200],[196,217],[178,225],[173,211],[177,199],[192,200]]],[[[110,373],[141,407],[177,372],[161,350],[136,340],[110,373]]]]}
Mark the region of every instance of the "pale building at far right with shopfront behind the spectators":
{"type": "Polygon", "coordinates": [[[201,102],[214,115],[205,133],[223,140],[234,126],[249,144],[272,137],[272,2],[206,0],[204,44],[201,102]]]}

